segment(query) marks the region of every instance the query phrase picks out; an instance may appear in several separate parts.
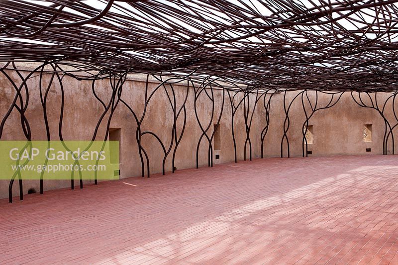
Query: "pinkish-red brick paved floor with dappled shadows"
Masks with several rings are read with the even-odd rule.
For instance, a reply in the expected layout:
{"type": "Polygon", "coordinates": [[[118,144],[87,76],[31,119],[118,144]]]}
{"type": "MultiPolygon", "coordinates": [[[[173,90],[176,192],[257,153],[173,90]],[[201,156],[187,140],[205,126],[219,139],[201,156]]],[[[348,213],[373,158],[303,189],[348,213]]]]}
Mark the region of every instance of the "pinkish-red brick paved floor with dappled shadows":
{"type": "Polygon", "coordinates": [[[398,264],[397,156],[256,159],[15,201],[0,200],[2,265],[398,264]]]}

